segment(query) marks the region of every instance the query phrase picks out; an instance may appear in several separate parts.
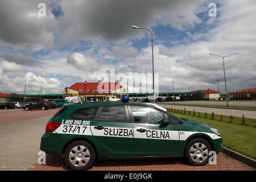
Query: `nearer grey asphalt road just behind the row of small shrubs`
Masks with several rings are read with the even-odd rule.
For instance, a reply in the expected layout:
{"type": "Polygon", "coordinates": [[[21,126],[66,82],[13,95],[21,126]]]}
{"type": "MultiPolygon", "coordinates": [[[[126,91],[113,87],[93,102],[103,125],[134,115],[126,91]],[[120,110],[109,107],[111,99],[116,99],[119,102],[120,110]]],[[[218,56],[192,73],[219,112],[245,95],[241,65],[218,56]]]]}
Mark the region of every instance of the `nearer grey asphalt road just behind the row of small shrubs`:
{"type": "Polygon", "coordinates": [[[215,114],[223,114],[223,115],[233,115],[237,117],[242,117],[242,115],[245,115],[246,118],[255,118],[256,119],[256,111],[254,110],[238,110],[238,109],[217,109],[217,108],[209,108],[209,107],[195,107],[195,106],[179,106],[179,105],[161,105],[162,107],[172,107],[174,109],[184,109],[186,110],[194,110],[200,111],[201,113],[212,113],[215,114]]]}

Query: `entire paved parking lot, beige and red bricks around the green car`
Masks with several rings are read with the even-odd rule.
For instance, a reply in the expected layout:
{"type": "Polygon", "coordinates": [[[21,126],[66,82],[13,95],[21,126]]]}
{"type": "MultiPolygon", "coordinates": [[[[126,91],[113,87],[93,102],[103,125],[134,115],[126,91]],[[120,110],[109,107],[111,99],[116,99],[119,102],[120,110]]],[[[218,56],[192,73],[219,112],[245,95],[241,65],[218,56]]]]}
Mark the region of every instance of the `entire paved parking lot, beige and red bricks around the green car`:
{"type": "MultiPolygon", "coordinates": [[[[63,159],[47,155],[39,165],[38,152],[46,122],[57,109],[0,112],[0,170],[67,170],[63,159]]],[[[189,166],[180,158],[98,160],[90,170],[255,170],[220,153],[217,165],[189,166]]]]}

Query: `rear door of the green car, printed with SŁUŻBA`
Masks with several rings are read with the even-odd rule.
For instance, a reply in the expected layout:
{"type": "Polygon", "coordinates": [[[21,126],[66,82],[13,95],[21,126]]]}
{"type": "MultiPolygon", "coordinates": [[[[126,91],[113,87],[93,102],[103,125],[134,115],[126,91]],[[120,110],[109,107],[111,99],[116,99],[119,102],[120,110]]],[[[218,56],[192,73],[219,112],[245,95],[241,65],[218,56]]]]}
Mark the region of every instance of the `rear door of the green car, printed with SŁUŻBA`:
{"type": "Polygon", "coordinates": [[[109,157],[133,155],[133,127],[125,105],[101,106],[90,123],[94,140],[109,157]]]}

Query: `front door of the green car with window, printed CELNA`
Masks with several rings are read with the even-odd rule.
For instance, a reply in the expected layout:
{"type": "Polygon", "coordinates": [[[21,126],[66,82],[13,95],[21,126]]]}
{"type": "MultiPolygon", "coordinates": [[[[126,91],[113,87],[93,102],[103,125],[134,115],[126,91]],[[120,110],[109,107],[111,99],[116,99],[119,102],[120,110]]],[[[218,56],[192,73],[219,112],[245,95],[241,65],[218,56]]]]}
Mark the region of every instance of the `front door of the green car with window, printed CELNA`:
{"type": "Polygon", "coordinates": [[[172,156],[178,154],[176,125],[164,125],[167,115],[149,106],[130,105],[134,130],[134,156],[172,156]]]}

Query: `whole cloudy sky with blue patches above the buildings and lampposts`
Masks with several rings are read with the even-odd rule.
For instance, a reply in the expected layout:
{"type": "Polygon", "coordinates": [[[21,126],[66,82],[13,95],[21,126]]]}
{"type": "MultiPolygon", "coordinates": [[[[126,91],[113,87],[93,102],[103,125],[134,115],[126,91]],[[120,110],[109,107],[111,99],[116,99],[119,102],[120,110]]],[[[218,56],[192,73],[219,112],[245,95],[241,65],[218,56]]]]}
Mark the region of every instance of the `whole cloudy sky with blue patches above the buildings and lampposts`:
{"type": "Polygon", "coordinates": [[[0,92],[59,93],[73,81],[100,73],[151,73],[149,32],[154,35],[159,90],[228,92],[256,87],[256,1],[0,1],[0,92]],[[38,3],[47,16],[38,17],[38,3]],[[209,17],[209,3],[217,17],[209,17]],[[53,10],[57,11],[54,14],[53,10]]]}

